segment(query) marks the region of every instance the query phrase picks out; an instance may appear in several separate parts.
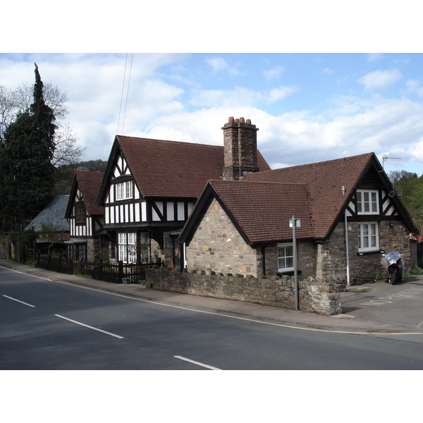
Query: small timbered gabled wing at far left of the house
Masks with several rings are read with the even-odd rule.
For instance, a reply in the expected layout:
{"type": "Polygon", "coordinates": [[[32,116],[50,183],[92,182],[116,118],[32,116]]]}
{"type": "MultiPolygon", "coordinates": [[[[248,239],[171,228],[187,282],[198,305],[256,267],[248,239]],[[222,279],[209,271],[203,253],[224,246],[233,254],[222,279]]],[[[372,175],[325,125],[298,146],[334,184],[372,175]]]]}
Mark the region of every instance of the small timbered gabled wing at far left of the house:
{"type": "Polygon", "coordinates": [[[75,172],[64,214],[70,228],[68,257],[73,259],[92,260],[100,252],[108,258],[109,250],[114,251],[109,235],[103,230],[104,209],[94,204],[103,176],[102,172],[75,172]]]}

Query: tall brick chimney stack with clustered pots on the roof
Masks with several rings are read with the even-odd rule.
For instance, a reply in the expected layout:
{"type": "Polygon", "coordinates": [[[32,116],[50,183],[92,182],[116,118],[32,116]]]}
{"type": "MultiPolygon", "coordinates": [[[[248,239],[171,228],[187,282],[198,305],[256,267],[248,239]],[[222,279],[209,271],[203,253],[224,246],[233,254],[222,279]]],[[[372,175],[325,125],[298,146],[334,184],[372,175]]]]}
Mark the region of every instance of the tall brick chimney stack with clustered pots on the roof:
{"type": "Polygon", "coordinates": [[[250,119],[229,118],[223,126],[223,179],[243,180],[250,172],[258,172],[257,130],[250,119]]]}

